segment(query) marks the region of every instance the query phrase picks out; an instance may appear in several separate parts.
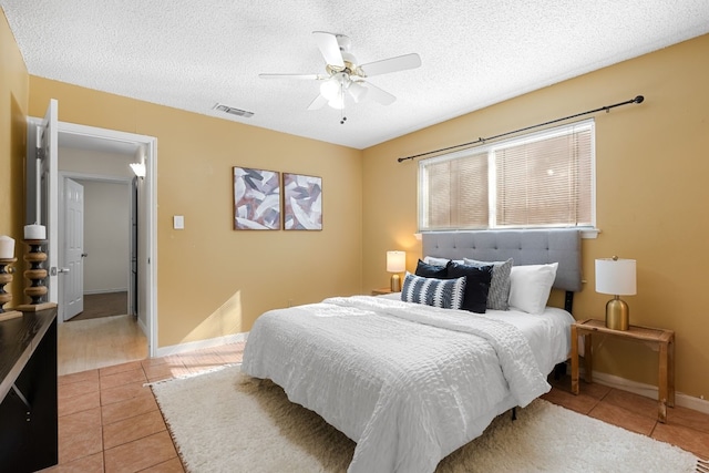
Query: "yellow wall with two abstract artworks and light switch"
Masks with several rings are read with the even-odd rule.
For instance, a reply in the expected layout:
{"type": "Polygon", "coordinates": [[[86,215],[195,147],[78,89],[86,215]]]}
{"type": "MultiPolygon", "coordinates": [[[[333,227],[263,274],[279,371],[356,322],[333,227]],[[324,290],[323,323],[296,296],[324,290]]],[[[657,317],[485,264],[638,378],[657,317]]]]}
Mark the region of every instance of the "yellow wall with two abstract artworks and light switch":
{"type": "Polygon", "coordinates": [[[50,99],[62,122],[157,137],[158,347],[360,291],[360,151],[30,76],[29,114],[43,116],[50,99]],[[233,166],[322,177],[323,229],[234,230],[233,166]]]}

